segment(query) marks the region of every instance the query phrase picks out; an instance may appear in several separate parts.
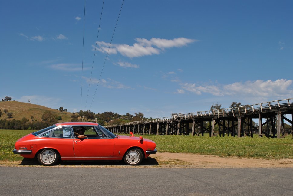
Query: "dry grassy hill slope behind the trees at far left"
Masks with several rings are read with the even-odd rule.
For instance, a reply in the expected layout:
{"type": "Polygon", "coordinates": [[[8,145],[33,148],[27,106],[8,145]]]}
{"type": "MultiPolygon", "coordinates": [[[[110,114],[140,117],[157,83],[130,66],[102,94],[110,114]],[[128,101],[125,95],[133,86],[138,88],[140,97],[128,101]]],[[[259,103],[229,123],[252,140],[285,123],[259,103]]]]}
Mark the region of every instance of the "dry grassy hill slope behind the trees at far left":
{"type": "Polygon", "coordinates": [[[53,113],[56,113],[57,116],[61,116],[62,120],[59,122],[69,122],[71,120],[72,113],[70,112],[60,112],[57,109],[51,109],[45,106],[35,105],[31,103],[23,103],[18,101],[1,101],[0,109],[3,112],[3,115],[0,119],[15,119],[21,120],[23,117],[31,121],[31,116],[34,116],[35,120],[42,120],[42,115],[45,111],[50,110],[53,113]],[[7,109],[8,112],[12,112],[12,118],[8,118],[7,114],[4,113],[4,109],[7,109]]]}

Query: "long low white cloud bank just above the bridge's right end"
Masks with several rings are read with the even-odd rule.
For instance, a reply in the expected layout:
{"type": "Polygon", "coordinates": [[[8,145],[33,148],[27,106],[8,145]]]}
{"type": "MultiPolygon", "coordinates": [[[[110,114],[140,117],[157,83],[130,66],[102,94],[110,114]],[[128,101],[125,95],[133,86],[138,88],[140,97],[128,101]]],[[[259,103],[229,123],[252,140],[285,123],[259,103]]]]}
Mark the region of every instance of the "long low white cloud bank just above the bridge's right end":
{"type": "MultiPolygon", "coordinates": [[[[196,85],[195,83],[181,83],[181,90],[193,92],[197,95],[210,93],[214,96],[241,96],[241,97],[274,97],[278,99],[293,96],[291,84],[293,80],[256,80],[235,82],[227,85],[196,85]]],[[[179,89],[180,90],[180,89],[179,89]]],[[[179,91],[177,90],[177,93],[179,91]]]]}

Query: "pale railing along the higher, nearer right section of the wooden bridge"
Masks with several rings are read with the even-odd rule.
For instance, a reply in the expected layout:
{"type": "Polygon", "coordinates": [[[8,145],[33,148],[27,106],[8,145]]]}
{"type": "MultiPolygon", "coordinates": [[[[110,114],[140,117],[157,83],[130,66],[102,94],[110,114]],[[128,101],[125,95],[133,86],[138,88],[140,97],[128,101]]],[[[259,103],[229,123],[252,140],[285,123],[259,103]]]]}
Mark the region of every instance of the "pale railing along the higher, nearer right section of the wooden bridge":
{"type": "Polygon", "coordinates": [[[200,111],[195,113],[187,113],[187,114],[177,114],[173,115],[172,119],[174,120],[184,120],[184,119],[191,119],[200,116],[207,116],[207,117],[214,117],[214,116],[235,116],[241,115],[246,113],[255,113],[255,112],[262,112],[263,110],[271,110],[275,108],[280,108],[284,106],[293,106],[293,98],[284,99],[284,100],[275,100],[269,101],[264,103],[258,103],[253,105],[245,105],[233,108],[226,108],[226,109],[213,109],[207,111],[200,111]]]}

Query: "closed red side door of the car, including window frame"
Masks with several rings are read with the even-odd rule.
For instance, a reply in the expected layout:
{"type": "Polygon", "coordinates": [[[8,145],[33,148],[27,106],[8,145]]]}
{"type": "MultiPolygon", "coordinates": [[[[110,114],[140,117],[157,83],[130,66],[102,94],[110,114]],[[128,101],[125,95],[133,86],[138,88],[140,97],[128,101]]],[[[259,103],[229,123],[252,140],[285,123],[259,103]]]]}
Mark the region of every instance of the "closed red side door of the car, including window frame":
{"type": "Polygon", "coordinates": [[[106,134],[100,136],[94,126],[84,126],[84,128],[86,128],[84,135],[88,138],[73,140],[75,157],[113,157],[113,139],[106,134]]]}

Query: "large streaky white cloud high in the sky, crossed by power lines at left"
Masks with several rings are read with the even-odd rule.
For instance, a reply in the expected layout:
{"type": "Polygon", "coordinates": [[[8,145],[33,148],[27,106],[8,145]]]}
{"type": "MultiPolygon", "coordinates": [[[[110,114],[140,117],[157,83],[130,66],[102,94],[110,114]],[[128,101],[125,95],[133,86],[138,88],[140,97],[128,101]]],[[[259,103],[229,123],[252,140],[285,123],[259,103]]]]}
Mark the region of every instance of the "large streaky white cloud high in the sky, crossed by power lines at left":
{"type": "MultiPolygon", "coordinates": [[[[142,57],[153,54],[160,54],[165,48],[171,47],[182,47],[186,46],[189,43],[195,42],[197,40],[188,39],[188,38],[175,38],[173,40],[160,39],[160,38],[151,38],[147,40],[145,38],[135,38],[137,43],[134,43],[133,46],[127,44],[111,44],[103,41],[97,42],[97,51],[107,53],[109,49],[109,54],[117,54],[118,52],[126,57],[142,57]]],[[[92,45],[93,50],[95,46],[92,45]]]]}

